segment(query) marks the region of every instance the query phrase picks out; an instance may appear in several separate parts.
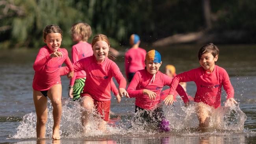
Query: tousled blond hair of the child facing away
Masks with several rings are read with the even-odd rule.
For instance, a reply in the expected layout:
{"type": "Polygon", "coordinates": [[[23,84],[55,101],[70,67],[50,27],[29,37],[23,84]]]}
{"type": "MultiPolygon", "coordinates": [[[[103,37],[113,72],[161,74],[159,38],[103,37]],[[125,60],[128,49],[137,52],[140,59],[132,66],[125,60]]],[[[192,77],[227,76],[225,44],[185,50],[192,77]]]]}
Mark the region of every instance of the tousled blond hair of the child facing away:
{"type": "Polygon", "coordinates": [[[91,26],[84,22],[73,24],[71,27],[71,34],[73,35],[74,33],[80,35],[82,41],[87,41],[89,37],[91,37],[91,26]]]}

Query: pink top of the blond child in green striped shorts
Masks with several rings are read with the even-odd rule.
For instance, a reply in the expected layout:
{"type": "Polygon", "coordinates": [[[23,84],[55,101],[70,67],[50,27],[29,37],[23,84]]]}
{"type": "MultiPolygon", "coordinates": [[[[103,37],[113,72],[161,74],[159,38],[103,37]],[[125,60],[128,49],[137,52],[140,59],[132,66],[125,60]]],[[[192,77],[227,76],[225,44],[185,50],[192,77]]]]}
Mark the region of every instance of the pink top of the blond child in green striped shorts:
{"type": "MultiPolygon", "coordinates": [[[[80,59],[93,55],[93,48],[88,42],[78,42],[77,44],[72,46],[71,55],[72,63],[75,63],[80,59]]],[[[86,73],[84,70],[81,70],[80,72],[74,72],[74,77],[70,79],[69,84],[73,86],[75,80],[79,78],[86,78],[86,73]]]]}

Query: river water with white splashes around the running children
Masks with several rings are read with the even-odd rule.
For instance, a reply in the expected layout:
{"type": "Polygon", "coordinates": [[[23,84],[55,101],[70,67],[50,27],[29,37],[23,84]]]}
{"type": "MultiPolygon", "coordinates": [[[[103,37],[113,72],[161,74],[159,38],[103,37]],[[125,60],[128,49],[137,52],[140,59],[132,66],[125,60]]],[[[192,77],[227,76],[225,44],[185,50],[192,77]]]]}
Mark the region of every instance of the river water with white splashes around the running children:
{"type": "MultiPolygon", "coordinates": [[[[0,143],[186,143],[186,144],[247,144],[256,143],[256,45],[219,45],[217,65],[226,69],[235,90],[239,105],[224,107],[225,92],[222,92],[222,106],[213,111],[212,129],[197,130],[198,120],[193,102],[184,107],[178,98],[171,107],[164,107],[171,131],[158,133],[150,126],[134,122],[133,98],[122,98],[117,104],[111,100],[111,114],[108,133],[94,130],[97,120],[91,118],[91,131],[82,133],[80,126],[80,105],[68,98],[69,79],[61,77],[63,86],[63,116],[61,119],[61,140],[51,140],[52,107],[48,102],[46,139],[37,140],[35,133],[36,115],[33,105],[32,80],[33,62],[37,50],[2,50],[0,53],[0,143]],[[214,122],[215,118],[221,121],[214,122]]],[[[150,46],[144,47],[147,51],[150,46]]],[[[164,72],[167,64],[176,66],[176,72],[184,72],[199,66],[197,52],[200,46],[178,45],[157,48],[162,56],[160,67],[164,72]]],[[[116,63],[124,74],[124,49],[116,63]]],[[[70,52],[70,50],[69,50],[70,52]]],[[[166,89],[166,88],[165,88],[166,89]]],[[[195,84],[187,83],[189,95],[195,95],[195,84]]]]}

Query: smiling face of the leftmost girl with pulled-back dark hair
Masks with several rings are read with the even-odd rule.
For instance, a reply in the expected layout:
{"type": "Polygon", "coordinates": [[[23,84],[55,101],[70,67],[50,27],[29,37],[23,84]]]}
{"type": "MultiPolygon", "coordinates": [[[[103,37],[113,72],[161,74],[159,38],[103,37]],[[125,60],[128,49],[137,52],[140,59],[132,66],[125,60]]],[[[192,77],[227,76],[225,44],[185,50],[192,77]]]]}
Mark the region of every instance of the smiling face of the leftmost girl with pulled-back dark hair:
{"type": "Polygon", "coordinates": [[[48,33],[44,40],[48,48],[52,51],[58,51],[61,45],[61,34],[60,33],[48,33]]]}

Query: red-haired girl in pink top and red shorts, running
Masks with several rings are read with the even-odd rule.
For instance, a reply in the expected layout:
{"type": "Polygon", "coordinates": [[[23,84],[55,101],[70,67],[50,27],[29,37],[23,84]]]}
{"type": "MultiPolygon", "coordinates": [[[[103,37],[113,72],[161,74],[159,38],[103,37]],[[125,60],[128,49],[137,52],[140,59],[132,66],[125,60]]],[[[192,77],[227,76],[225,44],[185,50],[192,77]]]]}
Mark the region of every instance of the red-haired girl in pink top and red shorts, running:
{"type": "MultiPolygon", "coordinates": [[[[106,124],[109,118],[111,78],[115,77],[119,83],[120,96],[129,97],[129,95],[125,90],[125,78],[122,76],[118,66],[108,59],[110,47],[108,37],[102,34],[96,35],[91,45],[93,55],[74,63],[74,72],[81,70],[86,72],[86,85],[81,94],[81,103],[85,109],[82,113],[82,125],[86,128],[89,114],[96,107],[102,117],[102,122],[98,125],[98,129],[104,131],[106,130],[106,124]]],[[[67,67],[63,67],[61,75],[67,74],[68,71],[67,67]]]]}

